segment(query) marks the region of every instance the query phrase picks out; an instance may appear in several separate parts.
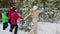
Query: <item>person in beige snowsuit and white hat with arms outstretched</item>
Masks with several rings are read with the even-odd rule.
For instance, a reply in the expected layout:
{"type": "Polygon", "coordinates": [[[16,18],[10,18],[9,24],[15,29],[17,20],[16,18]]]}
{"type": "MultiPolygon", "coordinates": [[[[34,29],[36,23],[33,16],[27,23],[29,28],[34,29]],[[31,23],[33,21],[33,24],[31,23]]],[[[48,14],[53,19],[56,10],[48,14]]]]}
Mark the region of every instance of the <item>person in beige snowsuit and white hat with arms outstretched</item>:
{"type": "Polygon", "coordinates": [[[34,2],[33,4],[34,4],[33,9],[32,9],[31,12],[24,18],[24,20],[25,20],[25,19],[28,18],[29,16],[32,16],[32,22],[34,23],[31,31],[30,31],[28,34],[32,34],[32,33],[37,34],[38,15],[39,15],[39,13],[43,12],[43,10],[44,10],[44,9],[42,9],[42,10],[38,11],[38,10],[37,10],[37,8],[38,8],[38,7],[37,7],[37,3],[34,2]]]}

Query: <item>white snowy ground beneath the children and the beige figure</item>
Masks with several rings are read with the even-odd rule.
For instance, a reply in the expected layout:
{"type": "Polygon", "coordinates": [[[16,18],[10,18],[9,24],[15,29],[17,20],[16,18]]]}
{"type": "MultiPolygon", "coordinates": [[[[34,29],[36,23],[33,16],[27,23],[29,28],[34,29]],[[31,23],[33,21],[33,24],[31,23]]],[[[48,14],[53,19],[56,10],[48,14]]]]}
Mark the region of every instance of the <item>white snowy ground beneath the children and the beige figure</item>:
{"type": "MultiPolygon", "coordinates": [[[[60,34],[60,24],[56,23],[44,23],[44,22],[38,22],[38,34],[60,34]]],[[[0,23],[0,34],[13,34],[9,32],[9,27],[3,31],[2,30],[2,24],[0,23]]],[[[18,31],[18,34],[27,34],[24,31],[18,31]]]]}

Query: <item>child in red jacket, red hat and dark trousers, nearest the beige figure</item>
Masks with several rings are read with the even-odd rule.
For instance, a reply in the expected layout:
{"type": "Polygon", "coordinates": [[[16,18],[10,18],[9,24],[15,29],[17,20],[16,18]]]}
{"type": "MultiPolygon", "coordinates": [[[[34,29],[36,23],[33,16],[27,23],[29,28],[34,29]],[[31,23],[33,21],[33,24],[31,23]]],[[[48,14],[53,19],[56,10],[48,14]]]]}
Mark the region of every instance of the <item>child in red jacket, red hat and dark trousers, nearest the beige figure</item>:
{"type": "Polygon", "coordinates": [[[12,24],[12,26],[11,26],[10,32],[12,32],[13,29],[15,28],[14,34],[17,34],[17,31],[18,31],[17,19],[18,18],[23,19],[23,17],[22,16],[19,16],[17,14],[17,12],[16,12],[17,11],[17,8],[15,6],[13,6],[11,8],[11,10],[12,10],[12,13],[11,13],[11,24],[12,24]]]}

